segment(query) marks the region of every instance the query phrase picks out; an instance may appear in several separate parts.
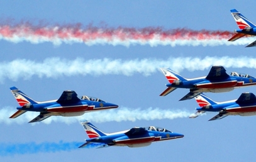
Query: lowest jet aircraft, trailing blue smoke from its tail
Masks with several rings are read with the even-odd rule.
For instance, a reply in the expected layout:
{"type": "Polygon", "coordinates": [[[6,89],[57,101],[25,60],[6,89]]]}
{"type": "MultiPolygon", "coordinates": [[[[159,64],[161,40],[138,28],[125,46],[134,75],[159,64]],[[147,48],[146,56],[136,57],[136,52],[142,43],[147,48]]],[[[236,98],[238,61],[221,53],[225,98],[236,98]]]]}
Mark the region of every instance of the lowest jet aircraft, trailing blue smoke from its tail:
{"type": "Polygon", "coordinates": [[[168,139],[183,138],[183,134],[173,133],[164,128],[149,126],[147,128],[134,127],[130,130],[116,133],[103,133],[89,121],[82,122],[82,126],[89,136],[86,143],[79,148],[86,146],[96,146],[97,148],[106,148],[108,146],[128,146],[130,148],[149,146],[155,141],[165,141],[168,139]]]}

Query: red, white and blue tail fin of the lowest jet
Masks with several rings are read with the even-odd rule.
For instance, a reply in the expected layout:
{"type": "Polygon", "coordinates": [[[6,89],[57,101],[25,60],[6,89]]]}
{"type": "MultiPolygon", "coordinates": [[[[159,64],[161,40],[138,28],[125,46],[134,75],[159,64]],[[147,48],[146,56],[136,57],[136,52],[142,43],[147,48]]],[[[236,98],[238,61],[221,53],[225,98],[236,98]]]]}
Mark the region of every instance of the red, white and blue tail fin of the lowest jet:
{"type": "Polygon", "coordinates": [[[103,131],[100,131],[96,126],[94,126],[89,121],[85,121],[81,123],[82,126],[84,126],[84,129],[86,130],[87,135],[89,138],[97,138],[100,136],[106,136],[106,133],[103,133],[103,131]]]}

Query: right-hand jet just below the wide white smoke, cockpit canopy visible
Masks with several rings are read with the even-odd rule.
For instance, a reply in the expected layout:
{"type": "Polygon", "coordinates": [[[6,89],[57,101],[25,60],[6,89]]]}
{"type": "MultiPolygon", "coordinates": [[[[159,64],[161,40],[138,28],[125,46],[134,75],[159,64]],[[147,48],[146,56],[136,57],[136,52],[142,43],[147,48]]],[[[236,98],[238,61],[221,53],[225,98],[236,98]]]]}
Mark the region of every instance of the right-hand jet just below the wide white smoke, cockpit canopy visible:
{"type": "Polygon", "coordinates": [[[170,83],[166,84],[168,88],[160,96],[166,96],[177,88],[190,89],[190,92],[180,101],[194,98],[203,92],[222,93],[256,84],[256,78],[237,72],[227,74],[223,66],[212,66],[208,76],[193,79],[183,78],[170,69],[161,68],[161,70],[170,83]]]}

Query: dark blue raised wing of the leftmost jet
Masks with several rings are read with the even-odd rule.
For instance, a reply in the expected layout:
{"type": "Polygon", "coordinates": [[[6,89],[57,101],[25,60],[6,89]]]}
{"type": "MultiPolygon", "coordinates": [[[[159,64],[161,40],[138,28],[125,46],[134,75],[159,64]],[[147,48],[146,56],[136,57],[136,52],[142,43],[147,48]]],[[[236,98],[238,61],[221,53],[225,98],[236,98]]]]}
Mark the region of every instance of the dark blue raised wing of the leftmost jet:
{"type": "Polygon", "coordinates": [[[57,100],[57,103],[77,103],[78,101],[80,101],[80,99],[77,98],[75,91],[64,91],[57,100]]]}

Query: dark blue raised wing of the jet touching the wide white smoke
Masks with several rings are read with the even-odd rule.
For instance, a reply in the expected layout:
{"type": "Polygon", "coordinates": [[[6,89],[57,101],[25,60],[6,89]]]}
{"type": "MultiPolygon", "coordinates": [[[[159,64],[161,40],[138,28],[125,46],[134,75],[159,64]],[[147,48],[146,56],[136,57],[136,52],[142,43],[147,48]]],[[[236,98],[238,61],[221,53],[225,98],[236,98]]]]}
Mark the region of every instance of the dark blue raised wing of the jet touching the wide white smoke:
{"type": "Polygon", "coordinates": [[[226,73],[226,69],[223,66],[212,66],[206,79],[223,79],[228,77],[230,76],[226,73]]]}

